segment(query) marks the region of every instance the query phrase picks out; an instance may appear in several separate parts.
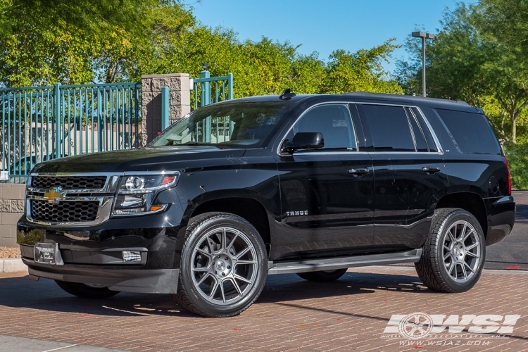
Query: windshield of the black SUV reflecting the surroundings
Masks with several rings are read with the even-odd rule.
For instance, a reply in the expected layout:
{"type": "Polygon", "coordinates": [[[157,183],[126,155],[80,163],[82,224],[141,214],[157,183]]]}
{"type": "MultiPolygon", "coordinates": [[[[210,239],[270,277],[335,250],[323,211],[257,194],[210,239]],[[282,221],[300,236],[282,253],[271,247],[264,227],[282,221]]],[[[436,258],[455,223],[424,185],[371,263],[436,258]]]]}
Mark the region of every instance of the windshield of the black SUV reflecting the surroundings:
{"type": "Polygon", "coordinates": [[[259,147],[291,104],[213,104],[199,108],[154,139],[149,146],[259,147]]]}

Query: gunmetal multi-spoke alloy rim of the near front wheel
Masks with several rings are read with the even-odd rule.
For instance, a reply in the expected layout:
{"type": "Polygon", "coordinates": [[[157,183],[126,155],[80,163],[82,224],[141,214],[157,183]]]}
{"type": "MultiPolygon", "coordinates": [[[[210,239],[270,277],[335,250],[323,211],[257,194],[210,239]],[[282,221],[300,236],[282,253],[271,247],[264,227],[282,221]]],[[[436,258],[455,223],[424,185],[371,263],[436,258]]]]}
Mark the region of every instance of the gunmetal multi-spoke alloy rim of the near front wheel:
{"type": "Polygon", "coordinates": [[[240,301],[255,284],[256,257],[255,247],[244,232],[217,227],[203,234],[192,255],[196,290],[218,305],[240,301]]]}

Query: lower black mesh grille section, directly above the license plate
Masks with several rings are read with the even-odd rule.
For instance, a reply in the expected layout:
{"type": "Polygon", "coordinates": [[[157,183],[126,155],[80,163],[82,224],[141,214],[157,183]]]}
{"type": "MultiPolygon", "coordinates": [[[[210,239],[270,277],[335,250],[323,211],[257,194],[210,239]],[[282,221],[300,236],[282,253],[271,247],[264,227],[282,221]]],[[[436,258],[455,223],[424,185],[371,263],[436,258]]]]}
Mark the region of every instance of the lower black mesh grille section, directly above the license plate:
{"type": "Polygon", "coordinates": [[[30,199],[31,218],[46,222],[94,221],[99,210],[99,201],[60,201],[30,199]]]}

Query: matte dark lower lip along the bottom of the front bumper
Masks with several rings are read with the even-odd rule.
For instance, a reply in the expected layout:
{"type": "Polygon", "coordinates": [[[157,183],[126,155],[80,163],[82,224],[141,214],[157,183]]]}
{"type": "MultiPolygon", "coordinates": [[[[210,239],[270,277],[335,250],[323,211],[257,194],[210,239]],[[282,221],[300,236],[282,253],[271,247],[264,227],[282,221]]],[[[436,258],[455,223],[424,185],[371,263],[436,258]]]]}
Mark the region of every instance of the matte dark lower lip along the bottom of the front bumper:
{"type": "Polygon", "coordinates": [[[45,277],[82,284],[100,284],[113,291],[143,294],[175,294],[180,275],[180,269],[116,269],[89,265],[46,265],[37,264],[28,258],[22,260],[29,268],[32,279],[45,277]]]}

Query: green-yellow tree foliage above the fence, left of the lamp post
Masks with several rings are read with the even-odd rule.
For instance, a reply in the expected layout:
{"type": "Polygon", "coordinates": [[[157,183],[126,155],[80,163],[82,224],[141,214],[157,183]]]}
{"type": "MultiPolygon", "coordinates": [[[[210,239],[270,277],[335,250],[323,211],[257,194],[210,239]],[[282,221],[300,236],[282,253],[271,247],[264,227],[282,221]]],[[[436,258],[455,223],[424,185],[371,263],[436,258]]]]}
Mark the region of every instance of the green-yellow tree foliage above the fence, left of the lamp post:
{"type": "Polygon", "coordinates": [[[240,41],[177,0],[0,0],[0,84],[6,87],[140,80],[156,73],[233,73],[235,96],[403,90],[382,68],[393,39],[324,61],[263,37],[240,41]]]}

